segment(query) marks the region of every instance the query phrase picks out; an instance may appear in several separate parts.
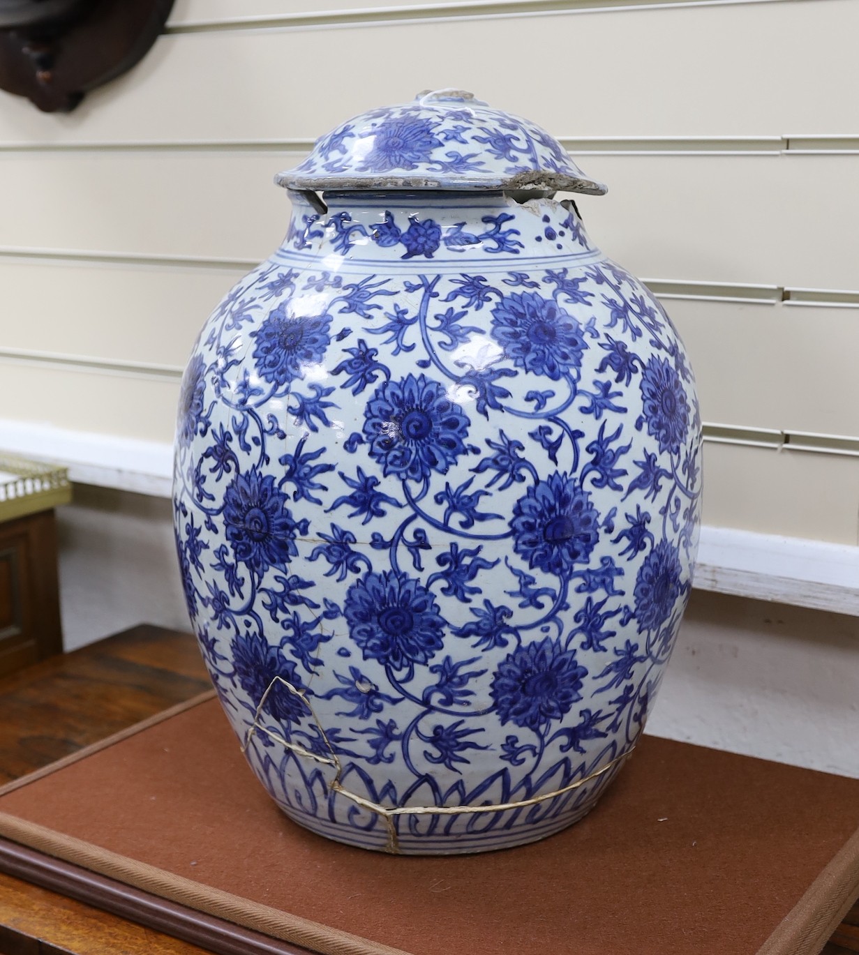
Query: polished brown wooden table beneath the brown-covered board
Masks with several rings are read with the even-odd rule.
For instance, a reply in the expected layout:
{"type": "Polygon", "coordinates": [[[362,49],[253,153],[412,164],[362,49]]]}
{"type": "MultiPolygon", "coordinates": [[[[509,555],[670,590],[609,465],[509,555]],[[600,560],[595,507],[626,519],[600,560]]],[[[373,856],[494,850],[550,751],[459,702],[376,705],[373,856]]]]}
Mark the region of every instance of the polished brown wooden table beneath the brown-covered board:
{"type": "MultiPolygon", "coordinates": [[[[194,638],[157,626],[136,626],[20,670],[0,680],[0,783],[209,688],[194,638]]],[[[0,874],[0,955],[203,951],[0,874]]],[[[832,936],[825,955],[855,952],[859,952],[859,904],[832,936]]]]}

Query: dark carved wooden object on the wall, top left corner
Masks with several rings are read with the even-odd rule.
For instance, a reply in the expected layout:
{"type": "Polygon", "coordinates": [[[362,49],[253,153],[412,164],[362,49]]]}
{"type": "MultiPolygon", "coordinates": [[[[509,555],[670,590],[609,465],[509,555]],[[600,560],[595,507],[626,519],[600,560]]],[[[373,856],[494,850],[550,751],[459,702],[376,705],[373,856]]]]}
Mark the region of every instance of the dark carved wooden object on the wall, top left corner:
{"type": "Polygon", "coordinates": [[[130,70],[161,33],[173,0],[0,0],[0,89],[68,113],[130,70]]]}

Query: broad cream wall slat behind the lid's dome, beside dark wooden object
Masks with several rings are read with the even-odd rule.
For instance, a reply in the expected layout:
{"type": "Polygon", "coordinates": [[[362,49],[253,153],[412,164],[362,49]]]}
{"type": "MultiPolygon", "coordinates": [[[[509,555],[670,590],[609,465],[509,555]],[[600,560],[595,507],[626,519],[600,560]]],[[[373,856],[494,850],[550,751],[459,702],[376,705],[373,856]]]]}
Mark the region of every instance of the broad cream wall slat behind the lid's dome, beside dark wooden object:
{"type": "Polygon", "coordinates": [[[845,92],[857,32],[851,0],[801,0],[463,19],[455,29],[180,33],[70,116],[5,96],[0,140],[312,138],[451,84],[563,136],[848,135],[859,130],[859,98],[845,92]],[[524,45],[524,31],[540,42],[524,45]],[[360,81],[344,81],[343,65],[360,81]]]}

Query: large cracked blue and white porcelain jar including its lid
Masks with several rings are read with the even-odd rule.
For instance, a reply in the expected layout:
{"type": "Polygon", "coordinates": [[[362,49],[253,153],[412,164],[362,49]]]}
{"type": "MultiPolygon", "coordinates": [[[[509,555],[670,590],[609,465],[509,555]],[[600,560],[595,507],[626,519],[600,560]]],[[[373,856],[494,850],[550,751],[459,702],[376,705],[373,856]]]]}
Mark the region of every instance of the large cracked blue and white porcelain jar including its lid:
{"type": "Polygon", "coordinates": [[[682,343],[553,198],[605,187],[470,94],[354,117],[277,181],[287,238],[183,378],[176,534],[214,685],[313,832],[547,837],[633,750],[689,597],[682,343]]]}

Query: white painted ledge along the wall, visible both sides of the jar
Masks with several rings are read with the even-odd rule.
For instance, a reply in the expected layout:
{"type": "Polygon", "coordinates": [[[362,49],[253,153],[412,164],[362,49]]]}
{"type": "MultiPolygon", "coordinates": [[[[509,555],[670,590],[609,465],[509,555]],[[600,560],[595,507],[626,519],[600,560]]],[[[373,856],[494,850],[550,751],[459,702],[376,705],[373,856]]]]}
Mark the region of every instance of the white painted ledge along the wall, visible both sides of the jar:
{"type": "MultiPolygon", "coordinates": [[[[170,496],[172,449],[158,441],[0,420],[0,449],[62,464],[80,484],[170,496]]],[[[859,616],[859,546],[704,526],[695,586],[859,616]]]]}

